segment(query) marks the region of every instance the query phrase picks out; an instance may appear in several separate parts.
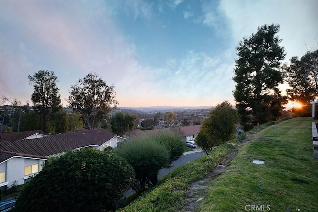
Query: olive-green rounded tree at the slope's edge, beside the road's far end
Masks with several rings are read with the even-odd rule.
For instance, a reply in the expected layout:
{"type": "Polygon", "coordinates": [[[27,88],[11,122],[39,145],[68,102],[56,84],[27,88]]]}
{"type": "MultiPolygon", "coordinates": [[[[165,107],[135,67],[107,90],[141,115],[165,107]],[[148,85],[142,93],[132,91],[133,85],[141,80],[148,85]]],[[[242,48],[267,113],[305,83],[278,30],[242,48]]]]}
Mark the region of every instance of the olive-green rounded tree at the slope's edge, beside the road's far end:
{"type": "Polygon", "coordinates": [[[239,115],[228,101],[218,104],[203,121],[195,140],[197,145],[203,149],[210,149],[232,139],[238,121],[239,115]]]}

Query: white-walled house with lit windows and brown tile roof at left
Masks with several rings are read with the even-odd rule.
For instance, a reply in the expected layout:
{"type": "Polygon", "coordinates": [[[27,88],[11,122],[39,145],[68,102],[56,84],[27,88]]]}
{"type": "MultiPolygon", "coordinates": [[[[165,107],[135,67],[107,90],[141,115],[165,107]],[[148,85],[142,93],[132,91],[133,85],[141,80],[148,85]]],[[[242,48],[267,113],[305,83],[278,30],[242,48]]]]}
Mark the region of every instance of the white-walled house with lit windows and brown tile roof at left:
{"type": "MultiPolygon", "coordinates": [[[[12,136],[13,137],[13,136],[12,136]]],[[[2,138],[2,137],[1,137],[2,138]]],[[[42,170],[41,164],[70,150],[117,147],[123,138],[104,129],[80,130],[40,138],[0,142],[0,186],[27,182],[42,170]]]]}

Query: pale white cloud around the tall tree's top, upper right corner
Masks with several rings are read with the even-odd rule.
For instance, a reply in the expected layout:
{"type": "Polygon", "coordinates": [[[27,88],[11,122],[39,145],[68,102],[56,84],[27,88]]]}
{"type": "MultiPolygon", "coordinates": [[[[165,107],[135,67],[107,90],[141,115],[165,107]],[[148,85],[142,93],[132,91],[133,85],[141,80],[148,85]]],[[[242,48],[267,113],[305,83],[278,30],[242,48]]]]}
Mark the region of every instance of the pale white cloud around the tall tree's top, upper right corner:
{"type": "Polygon", "coordinates": [[[286,59],[302,56],[305,43],[316,46],[318,39],[318,1],[221,1],[222,11],[231,25],[236,43],[264,24],[280,24],[279,37],[287,51],[286,59]],[[256,9],[262,8],[262,9],[256,9]]]}

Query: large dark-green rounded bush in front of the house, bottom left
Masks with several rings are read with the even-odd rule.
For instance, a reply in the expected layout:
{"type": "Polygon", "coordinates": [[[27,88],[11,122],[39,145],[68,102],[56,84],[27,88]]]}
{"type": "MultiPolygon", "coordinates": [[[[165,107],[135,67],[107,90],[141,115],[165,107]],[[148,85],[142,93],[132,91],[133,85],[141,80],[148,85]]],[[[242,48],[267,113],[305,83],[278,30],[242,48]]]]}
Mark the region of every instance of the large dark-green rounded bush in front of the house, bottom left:
{"type": "Polygon", "coordinates": [[[14,211],[114,211],[133,182],[134,170],[123,158],[94,149],[70,151],[46,161],[14,211]]]}

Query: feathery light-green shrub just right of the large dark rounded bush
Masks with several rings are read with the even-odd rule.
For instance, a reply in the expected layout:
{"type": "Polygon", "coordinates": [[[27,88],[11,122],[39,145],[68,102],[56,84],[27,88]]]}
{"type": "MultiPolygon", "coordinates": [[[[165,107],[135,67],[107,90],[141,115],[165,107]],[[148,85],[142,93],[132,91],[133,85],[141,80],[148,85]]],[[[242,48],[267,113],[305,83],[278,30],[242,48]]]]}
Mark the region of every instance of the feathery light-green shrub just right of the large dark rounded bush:
{"type": "Polygon", "coordinates": [[[134,168],[136,182],[132,189],[141,194],[146,191],[146,186],[153,187],[157,184],[157,175],[169,161],[169,151],[149,136],[134,137],[124,142],[116,154],[134,168]]]}

